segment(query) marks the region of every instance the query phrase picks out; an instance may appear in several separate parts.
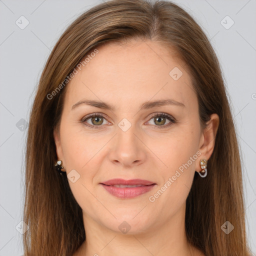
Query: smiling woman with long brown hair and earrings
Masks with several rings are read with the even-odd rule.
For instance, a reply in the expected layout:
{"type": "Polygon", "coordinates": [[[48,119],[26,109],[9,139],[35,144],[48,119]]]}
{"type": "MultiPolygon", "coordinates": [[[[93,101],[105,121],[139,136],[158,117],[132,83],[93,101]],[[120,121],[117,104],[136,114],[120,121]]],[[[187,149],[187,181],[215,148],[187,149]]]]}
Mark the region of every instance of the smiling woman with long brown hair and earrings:
{"type": "Polygon", "coordinates": [[[65,30],[26,150],[25,255],[249,255],[218,60],[168,1],[111,0],[65,30]]]}

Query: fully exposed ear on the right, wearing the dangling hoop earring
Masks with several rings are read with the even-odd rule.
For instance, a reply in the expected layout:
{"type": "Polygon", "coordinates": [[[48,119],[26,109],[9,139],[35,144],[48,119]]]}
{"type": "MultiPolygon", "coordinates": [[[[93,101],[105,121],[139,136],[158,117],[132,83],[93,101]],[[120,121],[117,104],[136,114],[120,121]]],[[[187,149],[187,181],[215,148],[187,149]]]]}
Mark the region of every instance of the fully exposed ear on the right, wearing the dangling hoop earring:
{"type": "Polygon", "coordinates": [[[207,122],[200,137],[199,151],[201,152],[201,155],[196,162],[195,170],[197,172],[201,171],[200,159],[208,160],[213,152],[218,125],[219,116],[216,113],[211,114],[210,120],[207,122]]]}

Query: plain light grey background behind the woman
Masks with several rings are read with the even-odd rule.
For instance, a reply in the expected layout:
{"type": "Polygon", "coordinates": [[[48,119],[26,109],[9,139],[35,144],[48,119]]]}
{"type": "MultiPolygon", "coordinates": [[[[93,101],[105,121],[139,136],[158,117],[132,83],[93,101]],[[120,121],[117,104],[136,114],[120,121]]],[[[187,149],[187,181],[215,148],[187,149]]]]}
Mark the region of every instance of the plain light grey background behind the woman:
{"type": "MultiPolygon", "coordinates": [[[[23,252],[22,234],[17,230],[24,201],[26,122],[43,65],[67,24],[100,2],[0,0],[0,255],[23,252]],[[23,29],[19,27],[22,15],[29,22],[23,29]]],[[[174,2],[211,38],[223,70],[242,153],[247,235],[255,253],[256,1],[174,2]],[[226,15],[231,19],[224,18],[226,15]]]]}

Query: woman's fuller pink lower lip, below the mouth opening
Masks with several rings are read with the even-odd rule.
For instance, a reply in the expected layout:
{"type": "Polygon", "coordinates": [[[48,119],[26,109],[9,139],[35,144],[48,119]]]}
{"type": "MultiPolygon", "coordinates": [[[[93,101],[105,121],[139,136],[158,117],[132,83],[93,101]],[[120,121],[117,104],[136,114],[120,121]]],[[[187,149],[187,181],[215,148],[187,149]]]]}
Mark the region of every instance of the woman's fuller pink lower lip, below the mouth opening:
{"type": "Polygon", "coordinates": [[[136,187],[116,187],[101,184],[107,192],[119,198],[132,198],[151,190],[155,184],[136,187]]]}

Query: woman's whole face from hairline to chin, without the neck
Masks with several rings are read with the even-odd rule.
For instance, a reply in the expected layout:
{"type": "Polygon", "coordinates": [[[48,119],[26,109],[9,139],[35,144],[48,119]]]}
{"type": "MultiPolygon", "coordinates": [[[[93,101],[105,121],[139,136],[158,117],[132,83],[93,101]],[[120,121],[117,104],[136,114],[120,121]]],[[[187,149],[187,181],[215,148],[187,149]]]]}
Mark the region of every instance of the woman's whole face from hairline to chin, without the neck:
{"type": "Polygon", "coordinates": [[[137,233],[184,218],[199,160],[210,156],[185,64],[152,41],[97,49],[66,85],[54,131],[84,219],[137,233]]]}

